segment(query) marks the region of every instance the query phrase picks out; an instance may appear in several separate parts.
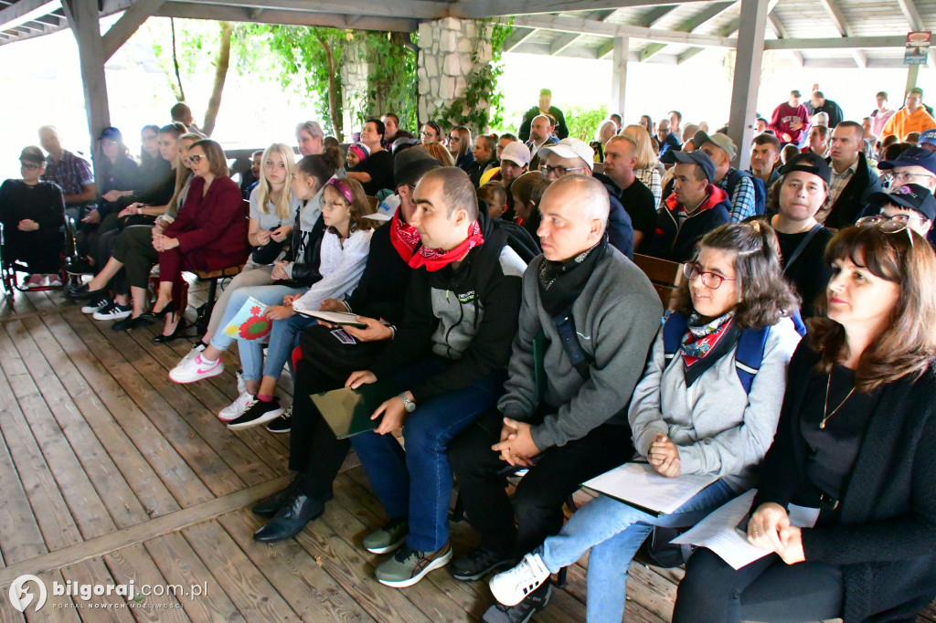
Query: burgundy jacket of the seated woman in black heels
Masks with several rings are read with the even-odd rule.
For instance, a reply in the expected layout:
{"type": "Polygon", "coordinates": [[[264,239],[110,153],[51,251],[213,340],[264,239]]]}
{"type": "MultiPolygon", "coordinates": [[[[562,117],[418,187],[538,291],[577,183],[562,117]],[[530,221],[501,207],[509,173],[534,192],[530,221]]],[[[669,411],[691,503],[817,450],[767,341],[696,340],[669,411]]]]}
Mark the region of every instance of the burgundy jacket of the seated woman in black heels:
{"type": "Polygon", "coordinates": [[[192,180],[182,209],[163,235],[179,240],[186,266],[214,270],[243,264],[250,243],[241,189],[227,176],[215,178],[202,196],[204,187],[203,178],[192,180]]]}

